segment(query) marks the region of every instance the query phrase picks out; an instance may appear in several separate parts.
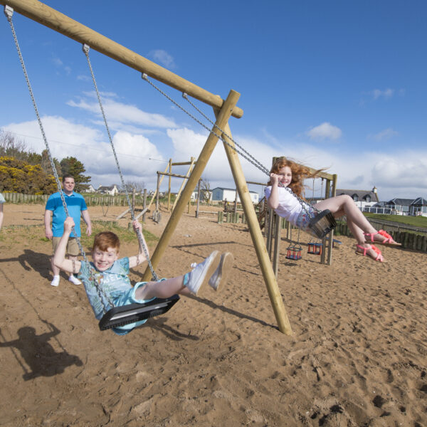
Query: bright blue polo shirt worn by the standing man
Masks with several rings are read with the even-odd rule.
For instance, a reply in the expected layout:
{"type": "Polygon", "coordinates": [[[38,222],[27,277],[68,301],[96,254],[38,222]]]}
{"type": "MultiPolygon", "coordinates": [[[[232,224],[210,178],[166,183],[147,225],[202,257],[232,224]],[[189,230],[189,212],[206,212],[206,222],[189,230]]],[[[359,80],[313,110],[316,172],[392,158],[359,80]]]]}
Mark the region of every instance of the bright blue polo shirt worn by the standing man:
{"type": "MultiPolygon", "coordinates": [[[[64,193],[65,203],[67,204],[68,214],[73,217],[75,223],[75,233],[77,236],[81,236],[80,232],[80,215],[81,211],[86,211],[88,206],[86,206],[85,199],[81,194],[75,193],[70,196],[67,196],[64,193]]],[[[49,196],[49,199],[46,203],[46,211],[52,211],[52,233],[53,237],[60,237],[64,233],[64,221],[67,217],[65,215],[65,209],[60,199],[60,193],[53,193],[49,196]]],[[[74,233],[70,234],[70,237],[75,237],[74,233]]]]}

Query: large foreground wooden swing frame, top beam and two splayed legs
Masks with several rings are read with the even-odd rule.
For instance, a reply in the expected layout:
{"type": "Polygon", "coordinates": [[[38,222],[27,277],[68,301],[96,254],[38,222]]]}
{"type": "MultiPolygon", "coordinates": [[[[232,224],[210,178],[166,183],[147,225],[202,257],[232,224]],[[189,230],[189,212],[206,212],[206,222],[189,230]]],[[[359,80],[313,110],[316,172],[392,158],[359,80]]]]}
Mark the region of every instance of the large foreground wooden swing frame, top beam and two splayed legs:
{"type": "MultiPolygon", "coordinates": [[[[292,334],[292,328],[290,327],[285,305],[283,304],[283,299],[280,295],[275,273],[273,271],[272,264],[270,263],[263,234],[260,230],[258,218],[253,208],[251,196],[241,167],[241,162],[238,158],[236,146],[233,142],[231,129],[228,124],[228,120],[231,116],[236,118],[241,118],[243,116],[243,110],[237,106],[240,94],[235,90],[230,90],[226,100],[223,100],[220,96],[209,93],[207,90],[204,90],[194,83],[181,78],[179,75],[176,75],[166,68],[153,63],[147,58],[130,51],[130,49],[121,46],[119,43],[116,43],[105,36],[102,36],[100,33],[78,23],[78,21],[70,19],[68,16],[46,6],[46,4],[43,4],[40,1],[0,0],[0,4],[8,6],[13,9],[13,11],[32,19],[33,21],[41,23],[58,33],[62,33],[64,36],[72,38],[73,40],[78,41],[78,43],[88,45],[93,50],[98,51],[105,56],[109,56],[110,58],[137,70],[139,73],[143,73],[142,78],[144,78],[144,80],[147,80],[147,76],[149,78],[154,78],[155,80],[158,80],[165,85],[169,85],[171,88],[179,90],[181,93],[185,93],[190,97],[194,97],[213,108],[216,122],[199,154],[199,159],[197,159],[188,179],[186,179],[186,185],[181,192],[181,196],[176,201],[176,206],[172,211],[172,215],[169,218],[167,226],[164,228],[164,232],[159,239],[157,248],[152,254],[152,266],[156,268],[159,261],[162,259],[162,255],[164,255],[164,251],[167,249],[170,238],[178,225],[179,218],[184,213],[185,206],[191,199],[191,194],[196,188],[199,179],[201,179],[201,174],[204,172],[206,164],[209,162],[211,154],[214,151],[219,138],[219,136],[216,135],[216,132],[220,130],[220,133],[222,133],[220,136],[223,140],[224,149],[226,150],[228,163],[231,167],[233,179],[236,183],[236,189],[238,190],[246,221],[248,223],[248,228],[251,233],[253,246],[263,274],[265,286],[268,290],[268,296],[270,297],[275,318],[278,322],[278,329],[280,332],[285,334],[292,334]]],[[[167,172],[164,173],[167,174],[167,172]]],[[[151,278],[152,272],[147,267],[142,280],[147,281],[151,278]]]]}

